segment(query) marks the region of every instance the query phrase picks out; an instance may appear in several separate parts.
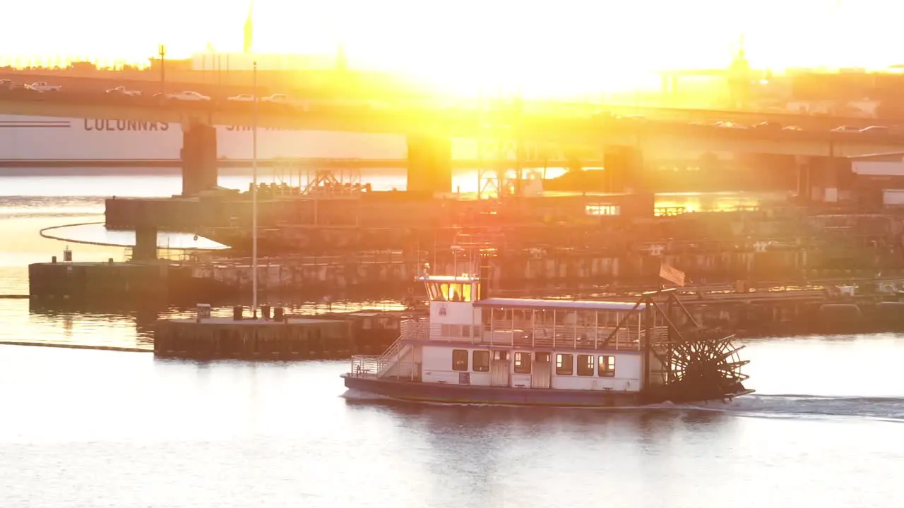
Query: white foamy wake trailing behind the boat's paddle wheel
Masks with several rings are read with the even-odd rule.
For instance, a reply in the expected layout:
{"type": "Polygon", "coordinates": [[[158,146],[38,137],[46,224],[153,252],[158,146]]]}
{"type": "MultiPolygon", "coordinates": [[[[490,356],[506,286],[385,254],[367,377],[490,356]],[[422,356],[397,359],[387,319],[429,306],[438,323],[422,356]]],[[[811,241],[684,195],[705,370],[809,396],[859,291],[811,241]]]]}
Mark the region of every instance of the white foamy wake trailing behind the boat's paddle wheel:
{"type": "MultiPolygon", "coordinates": [[[[662,406],[663,408],[669,406],[662,406]]],[[[852,417],[904,423],[904,397],[831,397],[796,394],[746,395],[730,402],[673,405],[760,418],[852,417]]]]}

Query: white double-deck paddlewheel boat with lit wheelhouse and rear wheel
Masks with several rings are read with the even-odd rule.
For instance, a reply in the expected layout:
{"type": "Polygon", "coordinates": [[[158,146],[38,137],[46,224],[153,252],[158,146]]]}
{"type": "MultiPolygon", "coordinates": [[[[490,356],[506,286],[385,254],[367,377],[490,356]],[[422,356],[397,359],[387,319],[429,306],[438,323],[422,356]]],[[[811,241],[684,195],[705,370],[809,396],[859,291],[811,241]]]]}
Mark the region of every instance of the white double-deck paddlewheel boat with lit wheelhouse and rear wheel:
{"type": "Polygon", "coordinates": [[[429,317],[403,322],[382,355],[353,356],[346,388],[396,400],[582,407],[753,391],[742,384],[743,346],[703,330],[670,290],[635,303],[485,298],[485,277],[419,280],[429,317]]]}

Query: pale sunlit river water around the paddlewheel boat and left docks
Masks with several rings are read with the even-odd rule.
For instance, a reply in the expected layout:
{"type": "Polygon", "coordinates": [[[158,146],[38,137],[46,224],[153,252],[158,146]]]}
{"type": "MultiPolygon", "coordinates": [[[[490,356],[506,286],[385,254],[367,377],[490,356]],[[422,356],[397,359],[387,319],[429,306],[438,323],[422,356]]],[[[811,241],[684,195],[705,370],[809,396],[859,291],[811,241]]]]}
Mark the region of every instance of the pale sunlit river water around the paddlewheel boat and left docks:
{"type": "MultiPolygon", "coordinates": [[[[174,175],[0,177],[0,294],[27,293],[27,263],[61,252],[40,228],[102,221],[106,195],[178,188],[174,175]]],[[[0,340],[146,345],[157,314],[3,298],[0,340]]],[[[0,506],[901,505],[904,338],[746,346],[755,395],[596,410],[347,398],[345,362],[0,345],[0,506]]]]}

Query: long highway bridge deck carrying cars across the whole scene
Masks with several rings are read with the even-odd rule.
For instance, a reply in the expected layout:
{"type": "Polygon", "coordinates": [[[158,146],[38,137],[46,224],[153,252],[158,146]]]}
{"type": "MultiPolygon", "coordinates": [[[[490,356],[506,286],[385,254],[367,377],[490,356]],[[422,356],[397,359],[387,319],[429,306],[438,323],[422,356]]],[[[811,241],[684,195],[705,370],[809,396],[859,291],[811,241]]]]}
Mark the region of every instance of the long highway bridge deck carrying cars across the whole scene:
{"type": "MultiPolygon", "coordinates": [[[[159,103],[149,98],[19,92],[0,96],[0,114],[109,118],[126,121],[211,126],[251,126],[250,103],[159,103]]],[[[675,112],[675,115],[681,113],[675,112]]],[[[710,112],[710,114],[715,114],[710,112]]],[[[760,116],[759,118],[763,118],[760,116]]],[[[692,125],[676,120],[600,120],[587,117],[532,115],[512,110],[462,111],[427,108],[321,108],[298,111],[259,104],[258,126],[296,130],[398,134],[432,138],[495,138],[558,146],[629,146],[656,154],[735,152],[773,155],[853,157],[899,152],[904,136],[836,133],[828,130],[736,129],[692,125]]]]}

